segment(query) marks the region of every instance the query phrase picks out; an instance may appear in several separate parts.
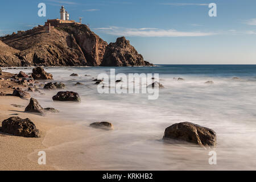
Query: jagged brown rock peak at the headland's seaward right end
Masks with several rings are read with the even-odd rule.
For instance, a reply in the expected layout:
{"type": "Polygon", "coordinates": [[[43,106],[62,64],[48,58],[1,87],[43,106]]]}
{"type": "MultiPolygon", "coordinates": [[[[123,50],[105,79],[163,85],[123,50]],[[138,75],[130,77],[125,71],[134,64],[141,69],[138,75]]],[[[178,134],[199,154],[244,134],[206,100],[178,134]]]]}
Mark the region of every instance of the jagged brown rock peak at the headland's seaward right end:
{"type": "Polygon", "coordinates": [[[152,65],[144,61],[143,56],[130,45],[124,36],[117,38],[115,43],[110,43],[105,50],[101,63],[102,66],[137,66],[152,65]]]}

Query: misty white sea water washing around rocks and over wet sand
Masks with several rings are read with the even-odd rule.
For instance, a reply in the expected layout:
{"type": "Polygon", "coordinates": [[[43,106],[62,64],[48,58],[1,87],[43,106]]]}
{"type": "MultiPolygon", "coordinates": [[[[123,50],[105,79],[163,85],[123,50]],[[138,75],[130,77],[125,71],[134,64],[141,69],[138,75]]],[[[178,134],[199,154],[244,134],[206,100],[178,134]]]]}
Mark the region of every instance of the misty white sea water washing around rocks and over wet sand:
{"type": "MultiPolygon", "coordinates": [[[[31,69],[8,69],[9,72],[31,69]]],[[[157,65],[156,67],[46,68],[65,90],[80,94],[81,103],[53,102],[57,91],[33,93],[44,107],[55,107],[53,118],[70,121],[51,129],[42,150],[57,169],[76,170],[255,170],[256,65],[157,65]],[[100,73],[159,73],[157,100],[148,94],[100,94],[93,78],[100,73]],[[77,73],[79,77],[71,77],[77,73]],[[90,75],[90,76],[85,76],[90,75]],[[184,80],[174,79],[181,77],[184,80]],[[233,79],[239,77],[239,79],[233,79]],[[214,84],[205,84],[213,81],[214,84]],[[74,86],[76,82],[84,85],[74,86]],[[89,127],[109,121],[114,130],[89,127]],[[162,141],[164,130],[193,122],[217,133],[217,146],[204,148],[162,141]],[[210,165],[210,151],[217,164],[210,165]]],[[[146,86],[146,85],[144,85],[146,86]]],[[[28,156],[37,160],[37,151],[28,156]]]]}

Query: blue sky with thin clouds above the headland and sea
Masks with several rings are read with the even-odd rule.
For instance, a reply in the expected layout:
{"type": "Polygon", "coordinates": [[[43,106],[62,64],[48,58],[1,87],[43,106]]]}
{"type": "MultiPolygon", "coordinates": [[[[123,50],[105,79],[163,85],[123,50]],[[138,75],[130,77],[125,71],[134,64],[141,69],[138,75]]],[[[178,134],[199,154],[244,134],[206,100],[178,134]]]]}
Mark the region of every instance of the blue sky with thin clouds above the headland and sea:
{"type": "Polygon", "coordinates": [[[255,0],[2,1],[0,35],[60,18],[61,5],[108,43],[126,36],[154,64],[256,64],[255,0]],[[46,17],[38,16],[41,2],[46,17]]]}

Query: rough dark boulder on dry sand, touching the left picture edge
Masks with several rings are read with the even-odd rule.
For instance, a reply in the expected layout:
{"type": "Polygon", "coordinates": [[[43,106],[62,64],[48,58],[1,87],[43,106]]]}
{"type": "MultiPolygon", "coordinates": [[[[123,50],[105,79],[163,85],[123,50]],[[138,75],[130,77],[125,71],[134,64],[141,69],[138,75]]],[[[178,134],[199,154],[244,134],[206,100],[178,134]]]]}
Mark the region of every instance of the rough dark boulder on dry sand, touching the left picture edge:
{"type": "Polygon", "coordinates": [[[11,117],[2,122],[2,133],[8,133],[19,137],[39,138],[39,130],[28,118],[11,117]]]}

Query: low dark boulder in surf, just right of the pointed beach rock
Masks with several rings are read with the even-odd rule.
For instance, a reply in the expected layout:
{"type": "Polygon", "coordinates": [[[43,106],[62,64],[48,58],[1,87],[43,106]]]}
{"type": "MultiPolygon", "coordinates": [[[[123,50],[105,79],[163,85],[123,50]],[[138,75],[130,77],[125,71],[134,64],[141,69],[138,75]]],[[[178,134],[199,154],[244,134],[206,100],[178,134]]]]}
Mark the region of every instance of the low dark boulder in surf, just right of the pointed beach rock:
{"type": "Polygon", "coordinates": [[[56,96],[52,97],[53,101],[75,101],[75,102],[80,102],[80,96],[76,92],[58,92],[56,96]]]}

